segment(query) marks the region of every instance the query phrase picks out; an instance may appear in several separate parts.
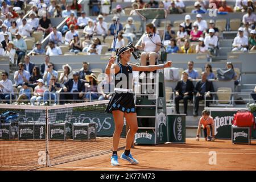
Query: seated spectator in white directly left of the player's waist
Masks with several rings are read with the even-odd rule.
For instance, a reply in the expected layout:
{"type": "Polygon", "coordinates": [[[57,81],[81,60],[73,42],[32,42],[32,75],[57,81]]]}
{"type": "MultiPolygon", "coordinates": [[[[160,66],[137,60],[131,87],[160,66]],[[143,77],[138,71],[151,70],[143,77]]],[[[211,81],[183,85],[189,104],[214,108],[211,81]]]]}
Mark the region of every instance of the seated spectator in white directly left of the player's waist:
{"type": "Polygon", "coordinates": [[[111,76],[107,76],[100,84],[102,85],[100,88],[101,96],[98,97],[98,100],[110,100],[114,92],[114,83],[111,76]]]}

